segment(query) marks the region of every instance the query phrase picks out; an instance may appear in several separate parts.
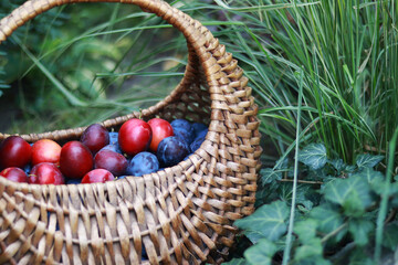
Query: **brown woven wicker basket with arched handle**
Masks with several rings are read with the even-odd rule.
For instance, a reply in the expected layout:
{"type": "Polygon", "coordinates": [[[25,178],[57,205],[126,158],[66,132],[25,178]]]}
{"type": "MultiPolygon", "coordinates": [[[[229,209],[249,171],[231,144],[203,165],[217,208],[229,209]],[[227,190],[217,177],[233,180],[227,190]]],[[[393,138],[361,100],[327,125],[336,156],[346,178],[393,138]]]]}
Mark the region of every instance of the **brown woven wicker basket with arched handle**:
{"type": "MultiPolygon", "coordinates": [[[[142,114],[144,119],[205,120],[209,132],[188,160],[142,178],[77,186],[0,178],[0,263],[220,263],[233,244],[233,221],[253,212],[261,147],[248,78],[209,30],[160,0],[30,0],[0,21],[0,42],[55,6],[97,1],[137,4],[185,35],[189,59],[184,78],[142,114]],[[143,247],[148,259],[142,258],[143,247]]],[[[117,129],[138,116],[102,124],[117,129]]],[[[22,137],[64,142],[84,129],[22,137]]],[[[6,137],[0,134],[0,140],[6,137]]]]}

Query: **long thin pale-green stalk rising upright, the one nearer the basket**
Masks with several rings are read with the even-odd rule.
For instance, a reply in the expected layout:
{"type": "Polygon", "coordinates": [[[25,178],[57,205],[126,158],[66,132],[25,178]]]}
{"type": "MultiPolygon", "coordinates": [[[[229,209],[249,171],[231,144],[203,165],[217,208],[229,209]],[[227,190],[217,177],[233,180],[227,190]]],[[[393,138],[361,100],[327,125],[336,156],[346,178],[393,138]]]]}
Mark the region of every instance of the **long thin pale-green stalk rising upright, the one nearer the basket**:
{"type": "Polygon", "coordinates": [[[296,145],[295,145],[295,155],[294,155],[294,174],[293,174],[293,192],[292,192],[292,206],[289,220],[289,230],[286,236],[286,247],[283,252],[283,262],[282,265],[287,265],[290,259],[290,252],[292,248],[292,236],[294,227],[294,209],[296,201],[296,190],[297,190],[297,174],[298,174],[298,148],[300,148],[300,130],[301,130],[301,108],[302,108],[302,98],[303,98],[303,78],[304,71],[300,73],[300,91],[298,91],[298,106],[297,106],[297,125],[296,125],[296,145]]]}

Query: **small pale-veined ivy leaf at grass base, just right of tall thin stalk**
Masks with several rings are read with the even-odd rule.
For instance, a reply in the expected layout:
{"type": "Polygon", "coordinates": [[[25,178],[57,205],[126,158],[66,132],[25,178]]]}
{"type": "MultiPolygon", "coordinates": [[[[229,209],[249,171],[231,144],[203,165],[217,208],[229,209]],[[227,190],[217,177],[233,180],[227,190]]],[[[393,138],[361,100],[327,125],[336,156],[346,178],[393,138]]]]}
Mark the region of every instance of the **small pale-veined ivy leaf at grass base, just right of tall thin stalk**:
{"type": "Polygon", "coordinates": [[[323,168],[327,161],[326,148],[323,144],[311,144],[298,153],[298,161],[311,169],[323,168]]]}

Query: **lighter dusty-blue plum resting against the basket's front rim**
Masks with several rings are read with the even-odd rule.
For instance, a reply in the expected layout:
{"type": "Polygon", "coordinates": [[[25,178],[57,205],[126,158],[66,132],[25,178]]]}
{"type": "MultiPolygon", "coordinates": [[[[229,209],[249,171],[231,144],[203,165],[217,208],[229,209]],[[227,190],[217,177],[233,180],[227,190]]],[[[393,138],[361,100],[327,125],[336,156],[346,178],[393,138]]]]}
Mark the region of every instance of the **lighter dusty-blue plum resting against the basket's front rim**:
{"type": "Polygon", "coordinates": [[[128,163],[126,173],[135,177],[158,171],[159,161],[151,152],[138,152],[128,163]]]}

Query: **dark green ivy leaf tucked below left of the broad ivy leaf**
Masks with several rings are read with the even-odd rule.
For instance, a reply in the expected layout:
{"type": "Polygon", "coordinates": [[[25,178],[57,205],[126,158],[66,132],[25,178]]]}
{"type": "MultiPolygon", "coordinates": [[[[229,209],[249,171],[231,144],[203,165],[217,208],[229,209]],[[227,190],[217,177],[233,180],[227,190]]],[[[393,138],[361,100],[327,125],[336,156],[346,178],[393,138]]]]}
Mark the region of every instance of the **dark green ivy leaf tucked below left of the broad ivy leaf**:
{"type": "MultiPolygon", "coordinates": [[[[314,208],[310,212],[310,218],[317,221],[317,230],[323,234],[328,234],[343,224],[343,216],[328,204],[314,208]]],[[[339,241],[345,233],[345,230],[338,233],[336,241],[339,241]]]]}

